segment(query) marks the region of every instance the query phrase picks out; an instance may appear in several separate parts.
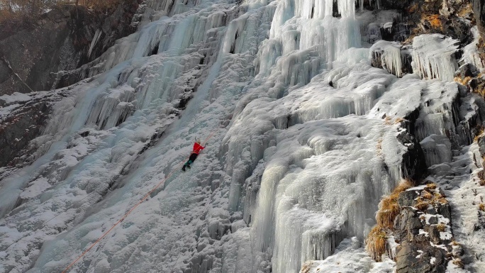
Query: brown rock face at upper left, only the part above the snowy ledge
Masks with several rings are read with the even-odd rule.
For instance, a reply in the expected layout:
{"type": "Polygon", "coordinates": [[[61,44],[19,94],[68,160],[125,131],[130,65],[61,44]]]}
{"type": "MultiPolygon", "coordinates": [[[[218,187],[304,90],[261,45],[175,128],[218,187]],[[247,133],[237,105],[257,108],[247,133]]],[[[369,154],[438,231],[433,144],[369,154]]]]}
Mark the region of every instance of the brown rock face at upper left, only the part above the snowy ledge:
{"type": "Polygon", "coordinates": [[[130,23],[139,2],[123,1],[109,16],[83,6],[61,6],[19,30],[4,28],[0,31],[0,96],[59,87],[57,72],[94,60],[135,30],[130,23]]]}

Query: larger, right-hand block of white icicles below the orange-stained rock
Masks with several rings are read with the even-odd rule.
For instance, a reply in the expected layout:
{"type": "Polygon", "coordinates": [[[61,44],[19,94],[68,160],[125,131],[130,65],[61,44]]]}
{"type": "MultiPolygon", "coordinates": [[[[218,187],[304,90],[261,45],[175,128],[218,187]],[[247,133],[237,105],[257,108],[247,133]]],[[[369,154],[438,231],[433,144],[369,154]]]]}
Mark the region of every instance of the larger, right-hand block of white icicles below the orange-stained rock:
{"type": "Polygon", "coordinates": [[[458,41],[441,34],[423,34],[413,38],[413,71],[423,79],[452,82],[457,61],[458,41]]]}

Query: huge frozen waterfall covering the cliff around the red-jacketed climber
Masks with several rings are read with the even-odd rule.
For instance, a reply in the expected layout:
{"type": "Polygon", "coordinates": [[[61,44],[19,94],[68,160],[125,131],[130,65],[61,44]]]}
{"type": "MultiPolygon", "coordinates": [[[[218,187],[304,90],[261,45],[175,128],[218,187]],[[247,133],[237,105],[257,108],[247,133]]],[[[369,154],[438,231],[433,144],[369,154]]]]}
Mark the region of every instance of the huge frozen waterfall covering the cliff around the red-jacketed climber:
{"type": "MultiPolygon", "coordinates": [[[[358,15],[354,0],[147,2],[136,33],[79,69],[90,81],[57,90],[33,164],[2,174],[0,272],[62,272],[161,179],[71,272],[299,272],[362,242],[407,175],[398,119],[424,92],[443,104],[419,141],[445,135],[458,92],[371,67],[358,15]]],[[[428,162],[447,158],[428,143],[428,162]]]]}

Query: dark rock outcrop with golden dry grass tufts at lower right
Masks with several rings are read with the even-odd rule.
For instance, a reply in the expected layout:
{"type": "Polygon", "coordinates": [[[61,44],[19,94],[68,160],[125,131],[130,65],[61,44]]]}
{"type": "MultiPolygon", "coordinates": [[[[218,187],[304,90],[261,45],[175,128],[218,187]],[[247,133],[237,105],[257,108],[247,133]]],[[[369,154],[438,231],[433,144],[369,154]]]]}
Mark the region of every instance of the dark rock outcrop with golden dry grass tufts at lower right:
{"type": "Polygon", "coordinates": [[[400,243],[396,272],[445,272],[457,247],[450,245],[450,205],[442,191],[435,186],[408,189],[399,195],[398,205],[402,211],[394,221],[394,238],[400,243]]]}

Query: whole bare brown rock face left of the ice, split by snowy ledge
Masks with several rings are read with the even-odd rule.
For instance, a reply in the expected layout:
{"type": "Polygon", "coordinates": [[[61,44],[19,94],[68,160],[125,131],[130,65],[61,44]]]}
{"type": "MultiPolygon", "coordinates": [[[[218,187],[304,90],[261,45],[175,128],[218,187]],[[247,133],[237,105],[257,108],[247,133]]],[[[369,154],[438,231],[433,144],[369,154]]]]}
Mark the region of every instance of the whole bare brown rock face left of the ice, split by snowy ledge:
{"type": "MultiPolygon", "coordinates": [[[[99,57],[111,45],[135,30],[131,19],[141,0],[124,0],[113,13],[96,13],[83,6],[60,6],[18,30],[0,31],[0,96],[65,87],[63,70],[76,69],[99,57]]],[[[0,116],[0,167],[26,163],[30,140],[42,131],[57,94],[35,94],[16,101],[0,116]],[[17,160],[14,160],[17,158],[17,160]]],[[[7,99],[8,100],[8,99],[7,99]]],[[[0,106],[9,106],[0,99],[0,106]]]]}

